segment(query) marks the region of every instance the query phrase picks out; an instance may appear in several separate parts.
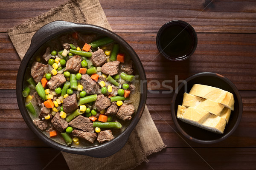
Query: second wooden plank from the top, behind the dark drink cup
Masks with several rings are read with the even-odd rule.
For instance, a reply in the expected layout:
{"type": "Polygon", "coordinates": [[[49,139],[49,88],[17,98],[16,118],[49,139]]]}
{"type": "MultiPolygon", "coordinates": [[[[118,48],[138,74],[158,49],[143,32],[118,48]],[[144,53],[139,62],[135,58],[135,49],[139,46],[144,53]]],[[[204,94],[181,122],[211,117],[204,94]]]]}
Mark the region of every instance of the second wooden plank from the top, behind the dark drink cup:
{"type": "MultiPolygon", "coordinates": [[[[148,89],[175,89],[178,81],[193,74],[215,72],[239,90],[256,90],[256,34],[198,34],[195,53],[182,62],[171,62],[159,54],[154,33],[119,35],[140,57],[148,89]]],[[[0,89],[14,89],[20,59],[6,33],[0,33],[0,48],[5,49],[0,53],[0,89]]]]}

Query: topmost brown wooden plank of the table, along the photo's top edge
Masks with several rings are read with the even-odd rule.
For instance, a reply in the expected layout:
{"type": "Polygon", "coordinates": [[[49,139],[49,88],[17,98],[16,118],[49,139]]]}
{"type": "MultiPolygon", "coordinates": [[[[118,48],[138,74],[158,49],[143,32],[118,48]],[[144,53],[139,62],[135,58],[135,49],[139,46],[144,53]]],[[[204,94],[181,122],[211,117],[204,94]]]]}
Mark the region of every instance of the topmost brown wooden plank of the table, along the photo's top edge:
{"type": "MultiPolygon", "coordinates": [[[[66,1],[1,0],[0,32],[66,1]]],[[[197,32],[256,33],[256,2],[253,0],[213,0],[209,5],[211,0],[99,1],[114,32],[156,33],[170,20],[184,20],[197,32]]]]}

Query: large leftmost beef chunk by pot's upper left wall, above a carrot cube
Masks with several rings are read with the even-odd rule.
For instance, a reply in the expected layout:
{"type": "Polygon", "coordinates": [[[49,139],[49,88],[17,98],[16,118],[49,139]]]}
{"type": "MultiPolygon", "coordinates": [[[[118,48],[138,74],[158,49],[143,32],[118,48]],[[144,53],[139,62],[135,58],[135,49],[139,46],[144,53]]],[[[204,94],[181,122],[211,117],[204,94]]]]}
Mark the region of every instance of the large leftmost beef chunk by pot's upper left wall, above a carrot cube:
{"type": "Polygon", "coordinates": [[[41,82],[44,77],[44,73],[47,72],[47,65],[41,64],[40,62],[33,62],[31,67],[31,76],[36,83],[41,82]]]}

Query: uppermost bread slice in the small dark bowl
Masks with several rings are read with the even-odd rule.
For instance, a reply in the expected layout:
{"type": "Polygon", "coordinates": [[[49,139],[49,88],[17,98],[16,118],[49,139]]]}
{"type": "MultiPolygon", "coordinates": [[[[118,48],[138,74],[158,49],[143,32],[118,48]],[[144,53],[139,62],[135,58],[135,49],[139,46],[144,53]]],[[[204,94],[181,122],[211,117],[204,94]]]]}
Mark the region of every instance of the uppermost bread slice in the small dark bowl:
{"type": "Polygon", "coordinates": [[[234,96],[228,91],[224,91],[220,88],[215,88],[209,85],[193,85],[189,94],[202,97],[205,99],[210,99],[212,101],[221,103],[222,105],[234,110],[234,96]]]}

